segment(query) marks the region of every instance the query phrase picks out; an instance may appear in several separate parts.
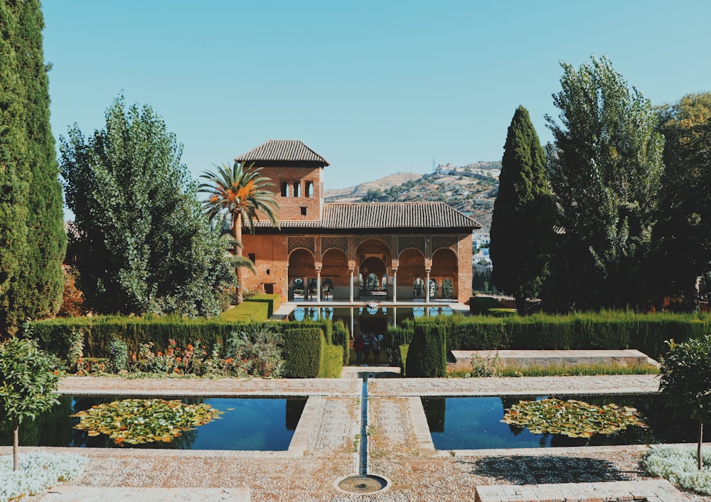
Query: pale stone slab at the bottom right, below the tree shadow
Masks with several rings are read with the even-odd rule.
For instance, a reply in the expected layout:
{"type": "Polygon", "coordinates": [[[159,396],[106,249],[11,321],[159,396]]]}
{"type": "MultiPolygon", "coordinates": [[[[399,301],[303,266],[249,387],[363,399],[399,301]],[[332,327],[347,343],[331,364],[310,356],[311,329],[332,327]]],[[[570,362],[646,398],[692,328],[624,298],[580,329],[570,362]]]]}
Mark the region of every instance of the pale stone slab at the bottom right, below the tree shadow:
{"type": "Polygon", "coordinates": [[[681,502],[688,501],[669,481],[600,481],[538,485],[477,486],[475,502],[681,502]]]}

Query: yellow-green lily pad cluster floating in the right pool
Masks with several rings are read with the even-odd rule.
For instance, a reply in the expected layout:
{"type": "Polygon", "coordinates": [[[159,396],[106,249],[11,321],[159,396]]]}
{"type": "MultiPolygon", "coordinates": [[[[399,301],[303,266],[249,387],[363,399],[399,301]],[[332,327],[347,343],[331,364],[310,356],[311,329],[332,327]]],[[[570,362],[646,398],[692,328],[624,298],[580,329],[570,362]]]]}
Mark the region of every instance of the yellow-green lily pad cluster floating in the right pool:
{"type": "Polygon", "coordinates": [[[631,425],[647,427],[633,407],[614,403],[600,407],[583,401],[555,398],[521,401],[506,412],[501,422],[528,427],[532,434],[549,432],[569,437],[613,434],[631,425]]]}

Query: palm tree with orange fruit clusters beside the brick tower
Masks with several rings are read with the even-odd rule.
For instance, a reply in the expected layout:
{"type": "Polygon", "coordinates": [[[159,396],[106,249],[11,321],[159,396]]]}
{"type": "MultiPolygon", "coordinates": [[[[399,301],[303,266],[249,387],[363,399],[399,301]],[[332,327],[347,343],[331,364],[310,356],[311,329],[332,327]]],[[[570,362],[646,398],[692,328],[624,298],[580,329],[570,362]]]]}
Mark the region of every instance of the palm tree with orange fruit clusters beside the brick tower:
{"type": "MultiPolygon", "coordinates": [[[[220,214],[232,218],[232,237],[236,243],[238,265],[235,272],[237,273],[237,305],[239,305],[242,303],[241,268],[246,265],[245,260],[240,260],[242,225],[246,225],[254,234],[255,222],[260,220],[260,216],[266,216],[275,227],[279,228],[276,213],[279,204],[274,199],[276,194],[269,190],[274,183],[266,176],[262,176],[260,169],[255,169],[254,164],[243,166],[235,162],[232,168],[226,164],[215,167],[216,172],[204,171],[200,176],[206,181],[198,186],[198,191],[208,194],[208,200],[203,203],[203,207],[210,221],[220,214]]],[[[250,268],[254,271],[253,267],[250,268]]]]}

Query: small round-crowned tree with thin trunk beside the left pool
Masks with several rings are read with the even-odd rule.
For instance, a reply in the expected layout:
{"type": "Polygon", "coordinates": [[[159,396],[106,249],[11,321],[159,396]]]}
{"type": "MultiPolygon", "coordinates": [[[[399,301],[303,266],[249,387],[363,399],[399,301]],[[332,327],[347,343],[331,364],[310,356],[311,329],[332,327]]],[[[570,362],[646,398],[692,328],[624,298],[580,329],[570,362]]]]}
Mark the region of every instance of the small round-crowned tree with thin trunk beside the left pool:
{"type": "Polygon", "coordinates": [[[58,404],[55,359],[36,341],[13,337],[0,345],[0,417],[11,420],[13,470],[17,470],[18,429],[25,419],[58,404]]]}

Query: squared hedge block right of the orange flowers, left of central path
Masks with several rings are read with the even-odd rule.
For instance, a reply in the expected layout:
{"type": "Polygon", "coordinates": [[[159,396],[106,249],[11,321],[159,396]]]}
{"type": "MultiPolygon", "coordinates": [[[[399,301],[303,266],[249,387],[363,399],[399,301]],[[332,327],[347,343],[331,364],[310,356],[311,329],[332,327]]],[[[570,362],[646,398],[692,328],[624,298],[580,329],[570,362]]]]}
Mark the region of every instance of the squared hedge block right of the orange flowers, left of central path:
{"type": "Polygon", "coordinates": [[[284,330],[284,375],[289,378],[319,377],[323,372],[325,352],[326,338],[321,329],[284,330]]]}

